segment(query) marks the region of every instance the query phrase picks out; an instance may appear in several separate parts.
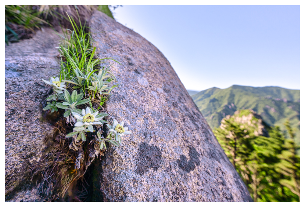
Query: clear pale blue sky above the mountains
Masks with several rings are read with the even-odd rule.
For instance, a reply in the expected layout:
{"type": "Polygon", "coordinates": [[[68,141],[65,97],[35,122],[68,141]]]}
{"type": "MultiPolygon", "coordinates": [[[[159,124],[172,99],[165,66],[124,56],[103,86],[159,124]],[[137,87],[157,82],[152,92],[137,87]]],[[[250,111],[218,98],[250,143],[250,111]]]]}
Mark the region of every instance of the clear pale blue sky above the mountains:
{"type": "Polygon", "coordinates": [[[164,54],[186,89],[300,89],[300,6],[123,5],[113,13],[164,54]]]}

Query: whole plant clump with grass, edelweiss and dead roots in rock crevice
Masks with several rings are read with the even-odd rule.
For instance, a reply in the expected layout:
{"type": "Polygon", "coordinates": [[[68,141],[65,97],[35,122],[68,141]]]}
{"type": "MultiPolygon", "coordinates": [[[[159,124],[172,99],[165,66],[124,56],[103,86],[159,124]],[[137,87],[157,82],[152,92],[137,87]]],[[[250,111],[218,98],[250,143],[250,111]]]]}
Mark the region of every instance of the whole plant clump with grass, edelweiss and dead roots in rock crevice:
{"type": "Polygon", "coordinates": [[[119,123],[103,108],[111,91],[117,87],[116,78],[110,71],[111,64],[105,60],[117,61],[99,59],[95,55],[96,48],[91,47],[91,36],[85,31],[85,25],[77,27],[74,19],[69,19],[74,30],[64,31],[58,47],[60,73],[58,77],[42,80],[51,88],[42,102],[45,103],[43,110],[47,114],[59,114],[56,136],[52,136],[52,141],[46,140],[52,143],[46,150],[46,162],[37,165],[44,172],[41,173],[38,167],[32,169],[36,170],[34,174],[40,175],[37,180],[46,201],[71,198],[72,195],[75,199],[80,198],[88,189],[81,187],[79,190],[77,181],[91,162],[104,155],[107,145],[119,147],[123,136],[131,134],[122,120],[119,123]],[[108,116],[112,118],[112,124],[105,120],[108,116]],[[104,131],[104,124],[108,130],[104,131]],[[52,174],[53,169],[57,173],[52,174]],[[53,183],[52,186],[49,183],[53,183]]]}

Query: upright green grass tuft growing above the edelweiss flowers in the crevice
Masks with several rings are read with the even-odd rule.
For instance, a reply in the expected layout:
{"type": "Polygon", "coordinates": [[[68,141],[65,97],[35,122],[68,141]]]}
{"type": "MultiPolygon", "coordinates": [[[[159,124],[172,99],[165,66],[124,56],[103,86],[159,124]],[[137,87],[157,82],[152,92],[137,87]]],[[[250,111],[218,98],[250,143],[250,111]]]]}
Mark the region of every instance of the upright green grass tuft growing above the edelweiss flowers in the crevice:
{"type": "Polygon", "coordinates": [[[58,47],[61,53],[59,79],[68,83],[67,89],[70,92],[76,89],[77,92],[84,93],[84,97],[91,100],[88,107],[99,109],[107,100],[110,91],[118,86],[109,85],[116,81],[116,78],[109,69],[112,64],[105,60],[113,59],[99,59],[95,55],[96,48],[91,46],[90,31],[86,32],[85,24],[78,27],[73,18],[68,18],[74,30],[67,29],[61,36],[62,42],[58,47]]]}

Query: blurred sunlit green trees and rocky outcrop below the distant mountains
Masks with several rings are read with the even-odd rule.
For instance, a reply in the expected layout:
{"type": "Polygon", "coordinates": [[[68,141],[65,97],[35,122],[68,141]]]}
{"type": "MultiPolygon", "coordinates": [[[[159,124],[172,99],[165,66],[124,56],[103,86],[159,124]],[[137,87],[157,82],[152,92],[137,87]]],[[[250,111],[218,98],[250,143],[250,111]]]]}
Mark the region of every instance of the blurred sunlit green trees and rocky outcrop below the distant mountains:
{"type": "Polygon", "coordinates": [[[278,126],[269,127],[254,111],[236,111],[214,130],[225,154],[248,187],[255,202],[300,201],[300,147],[278,126]]]}

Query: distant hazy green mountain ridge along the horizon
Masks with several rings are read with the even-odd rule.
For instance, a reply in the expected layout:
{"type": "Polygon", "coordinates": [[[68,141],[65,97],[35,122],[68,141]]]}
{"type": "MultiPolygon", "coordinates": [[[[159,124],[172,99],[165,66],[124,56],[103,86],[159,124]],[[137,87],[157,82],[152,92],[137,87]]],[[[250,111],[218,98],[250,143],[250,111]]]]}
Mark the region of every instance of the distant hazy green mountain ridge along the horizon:
{"type": "Polygon", "coordinates": [[[192,99],[212,129],[218,127],[226,115],[252,109],[268,125],[278,125],[283,131],[284,122],[289,119],[296,128],[296,140],[300,140],[300,90],[232,85],[226,89],[213,87],[200,91],[192,99]]]}

